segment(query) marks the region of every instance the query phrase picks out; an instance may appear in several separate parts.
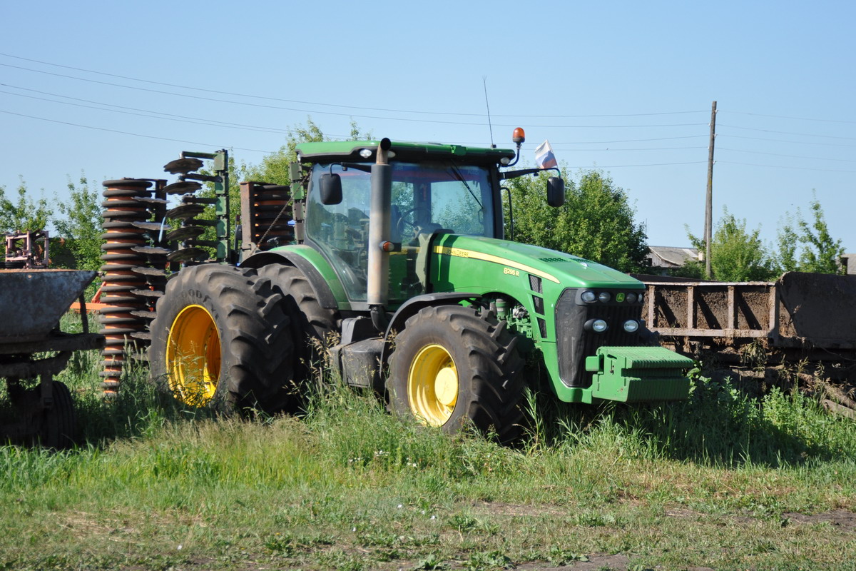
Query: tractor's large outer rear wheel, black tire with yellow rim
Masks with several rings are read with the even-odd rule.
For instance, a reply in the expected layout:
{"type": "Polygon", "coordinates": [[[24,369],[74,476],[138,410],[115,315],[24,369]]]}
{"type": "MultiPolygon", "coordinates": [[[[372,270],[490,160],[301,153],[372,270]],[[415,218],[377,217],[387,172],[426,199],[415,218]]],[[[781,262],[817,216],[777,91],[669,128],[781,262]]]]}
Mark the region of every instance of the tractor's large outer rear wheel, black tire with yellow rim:
{"type": "Polygon", "coordinates": [[[254,270],[182,269],[152,321],[152,380],[185,404],[223,413],[287,409],[294,346],[281,300],[254,270]]]}

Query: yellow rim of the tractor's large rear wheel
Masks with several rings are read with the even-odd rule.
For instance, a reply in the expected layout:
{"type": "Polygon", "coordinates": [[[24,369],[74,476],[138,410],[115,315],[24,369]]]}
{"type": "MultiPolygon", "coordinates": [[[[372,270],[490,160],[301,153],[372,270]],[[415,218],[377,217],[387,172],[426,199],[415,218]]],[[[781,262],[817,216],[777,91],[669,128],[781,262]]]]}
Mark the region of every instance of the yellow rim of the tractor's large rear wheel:
{"type": "Polygon", "coordinates": [[[203,306],[187,306],[169,328],[166,371],[175,398],[203,407],[217,390],[220,378],[220,334],[203,306]]]}

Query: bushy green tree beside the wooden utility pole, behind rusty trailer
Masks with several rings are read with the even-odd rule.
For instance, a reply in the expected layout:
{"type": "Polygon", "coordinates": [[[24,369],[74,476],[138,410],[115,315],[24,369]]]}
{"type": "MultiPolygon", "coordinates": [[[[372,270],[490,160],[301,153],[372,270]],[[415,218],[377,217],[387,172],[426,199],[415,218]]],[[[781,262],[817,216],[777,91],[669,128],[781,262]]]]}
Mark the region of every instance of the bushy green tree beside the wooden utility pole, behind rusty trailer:
{"type": "MultiPolygon", "coordinates": [[[[722,207],[722,218],[710,240],[711,278],[720,282],[758,282],[775,279],[775,260],[760,237],[761,229],[746,230],[746,218],[738,219],[722,207]]],[[[693,247],[704,250],[704,240],[687,231],[693,247]]]]}

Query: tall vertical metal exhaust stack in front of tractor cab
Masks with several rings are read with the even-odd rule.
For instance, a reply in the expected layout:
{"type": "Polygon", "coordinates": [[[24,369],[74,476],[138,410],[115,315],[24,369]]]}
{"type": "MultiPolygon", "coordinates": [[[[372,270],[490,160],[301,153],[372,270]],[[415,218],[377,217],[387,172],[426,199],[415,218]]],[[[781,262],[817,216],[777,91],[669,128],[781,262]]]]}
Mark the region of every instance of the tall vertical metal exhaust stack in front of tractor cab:
{"type": "Polygon", "coordinates": [[[382,333],[386,330],[384,306],[389,298],[389,253],[383,244],[389,241],[389,210],[392,201],[392,167],[389,147],[384,138],[377,146],[377,161],[372,164],[372,199],[369,211],[369,257],[367,300],[372,311],[372,324],[382,333]]]}

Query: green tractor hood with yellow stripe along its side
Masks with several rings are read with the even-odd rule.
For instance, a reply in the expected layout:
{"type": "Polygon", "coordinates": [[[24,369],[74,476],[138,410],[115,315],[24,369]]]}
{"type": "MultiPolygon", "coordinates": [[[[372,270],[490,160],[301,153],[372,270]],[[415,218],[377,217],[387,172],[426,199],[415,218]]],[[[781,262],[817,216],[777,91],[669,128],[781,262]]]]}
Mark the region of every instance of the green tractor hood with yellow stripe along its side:
{"type": "Polygon", "coordinates": [[[563,288],[645,289],[639,280],[597,262],[519,242],[438,235],[431,249],[436,256],[432,262],[437,264],[437,271],[431,273],[441,281],[448,279],[449,285],[458,291],[467,287],[482,289],[485,279],[525,277],[526,274],[563,288]],[[469,263],[461,264],[464,259],[469,263]],[[475,260],[484,265],[474,265],[475,260]]]}

